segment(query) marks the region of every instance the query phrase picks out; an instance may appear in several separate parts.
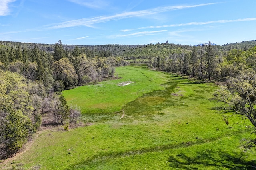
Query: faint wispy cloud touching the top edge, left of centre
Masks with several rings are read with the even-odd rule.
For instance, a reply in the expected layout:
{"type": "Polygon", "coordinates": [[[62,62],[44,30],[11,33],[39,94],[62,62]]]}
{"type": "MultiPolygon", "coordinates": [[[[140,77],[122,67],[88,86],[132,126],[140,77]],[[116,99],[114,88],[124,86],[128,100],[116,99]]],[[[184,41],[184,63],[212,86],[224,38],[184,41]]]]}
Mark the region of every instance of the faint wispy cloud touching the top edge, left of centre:
{"type": "Polygon", "coordinates": [[[108,2],[104,0],[69,0],[70,2],[86,6],[88,8],[105,8],[108,2]]]}

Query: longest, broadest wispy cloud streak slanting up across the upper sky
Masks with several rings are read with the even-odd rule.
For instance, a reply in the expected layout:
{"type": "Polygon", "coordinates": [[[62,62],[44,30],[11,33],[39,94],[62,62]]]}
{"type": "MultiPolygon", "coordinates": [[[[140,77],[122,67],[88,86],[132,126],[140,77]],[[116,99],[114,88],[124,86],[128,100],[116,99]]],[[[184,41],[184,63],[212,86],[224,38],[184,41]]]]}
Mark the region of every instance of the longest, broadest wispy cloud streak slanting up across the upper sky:
{"type": "Polygon", "coordinates": [[[161,12],[167,12],[170,10],[195,8],[195,7],[199,7],[199,6],[207,6],[207,5],[212,5],[212,4],[216,4],[216,3],[198,4],[198,5],[183,5],[183,6],[166,6],[166,7],[158,7],[158,8],[148,9],[148,10],[123,12],[120,14],[115,14],[115,15],[110,15],[110,16],[82,18],[82,19],[78,19],[78,20],[66,21],[66,22],[60,23],[58,25],[52,26],[50,28],[58,29],[58,28],[67,28],[67,27],[78,27],[78,26],[92,27],[92,25],[96,24],[96,23],[102,23],[102,22],[107,22],[107,21],[112,21],[112,20],[120,20],[120,19],[124,19],[124,18],[142,17],[142,16],[158,14],[161,12]]]}

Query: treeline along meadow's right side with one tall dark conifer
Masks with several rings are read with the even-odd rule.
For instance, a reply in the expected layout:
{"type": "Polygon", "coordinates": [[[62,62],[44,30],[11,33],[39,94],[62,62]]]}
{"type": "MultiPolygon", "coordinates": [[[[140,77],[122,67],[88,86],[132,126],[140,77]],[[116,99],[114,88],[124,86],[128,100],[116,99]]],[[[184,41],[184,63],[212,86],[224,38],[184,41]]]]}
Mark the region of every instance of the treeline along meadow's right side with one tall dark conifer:
{"type": "Polygon", "coordinates": [[[227,80],[246,69],[256,69],[256,47],[250,49],[219,49],[210,41],[168,56],[148,57],[148,66],[166,72],[180,72],[197,78],[227,80]]]}

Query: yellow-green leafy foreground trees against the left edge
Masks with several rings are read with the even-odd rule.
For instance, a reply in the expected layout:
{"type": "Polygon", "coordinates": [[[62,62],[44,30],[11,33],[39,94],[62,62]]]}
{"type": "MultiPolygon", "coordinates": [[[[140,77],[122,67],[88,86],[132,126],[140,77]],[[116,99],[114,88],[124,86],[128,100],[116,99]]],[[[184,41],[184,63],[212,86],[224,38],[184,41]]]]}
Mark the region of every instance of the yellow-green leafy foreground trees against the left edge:
{"type": "Polygon", "coordinates": [[[22,76],[0,70],[0,159],[14,154],[34,133],[34,110],[22,76]]]}

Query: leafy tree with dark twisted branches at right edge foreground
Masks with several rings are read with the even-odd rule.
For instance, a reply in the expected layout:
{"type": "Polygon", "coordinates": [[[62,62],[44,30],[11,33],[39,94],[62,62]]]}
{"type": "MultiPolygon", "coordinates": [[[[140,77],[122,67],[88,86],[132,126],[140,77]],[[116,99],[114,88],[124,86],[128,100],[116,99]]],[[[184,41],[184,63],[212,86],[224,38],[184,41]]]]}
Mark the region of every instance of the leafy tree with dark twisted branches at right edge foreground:
{"type": "MultiPolygon", "coordinates": [[[[228,80],[215,94],[215,99],[224,102],[223,109],[242,115],[256,127],[256,73],[243,71],[228,80]]],[[[228,124],[228,119],[226,119],[228,124]]],[[[245,147],[256,147],[256,139],[247,141],[245,147]]]]}

